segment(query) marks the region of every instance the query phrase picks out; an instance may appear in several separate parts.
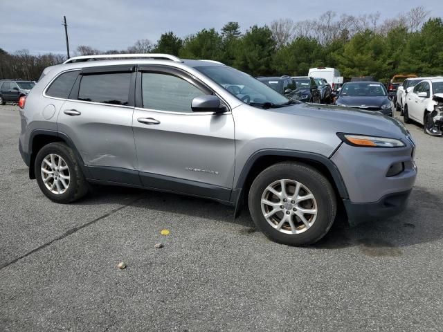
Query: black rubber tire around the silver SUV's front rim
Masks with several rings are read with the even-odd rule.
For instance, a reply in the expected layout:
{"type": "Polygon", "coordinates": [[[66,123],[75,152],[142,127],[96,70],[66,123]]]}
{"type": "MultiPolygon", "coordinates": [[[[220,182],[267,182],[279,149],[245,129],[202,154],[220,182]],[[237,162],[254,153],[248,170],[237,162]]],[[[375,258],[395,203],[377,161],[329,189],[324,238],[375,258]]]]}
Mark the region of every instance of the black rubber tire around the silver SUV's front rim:
{"type": "Polygon", "coordinates": [[[248,206],[255,225],[266,237],[289,246],[305,246],[324,237],[334,223],[337,209],[336,195],[327,178],[313,167],[291,162],[272,165],[255,178],[249,190],[248,206]],[[273,228],[262,212],[262,194],[266,187],[281,179],[302,183],[316,200],[316,219],[309,228],[299,234],[287,234],[273,228]]]}

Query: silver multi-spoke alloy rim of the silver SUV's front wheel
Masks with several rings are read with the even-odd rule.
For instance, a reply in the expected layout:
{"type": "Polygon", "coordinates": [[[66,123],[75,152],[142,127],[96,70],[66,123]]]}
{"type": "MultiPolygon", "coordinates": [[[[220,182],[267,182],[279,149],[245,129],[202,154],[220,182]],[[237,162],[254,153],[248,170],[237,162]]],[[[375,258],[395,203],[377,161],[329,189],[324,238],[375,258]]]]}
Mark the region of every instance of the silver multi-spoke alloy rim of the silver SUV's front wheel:
{"type": "Polygon", "coordinates": [[[264,219],[275,230],[285,234],[300,234],[314,224],[317,201],[306,185],[281,179],[268,185],[262,194],[264,219]]]}

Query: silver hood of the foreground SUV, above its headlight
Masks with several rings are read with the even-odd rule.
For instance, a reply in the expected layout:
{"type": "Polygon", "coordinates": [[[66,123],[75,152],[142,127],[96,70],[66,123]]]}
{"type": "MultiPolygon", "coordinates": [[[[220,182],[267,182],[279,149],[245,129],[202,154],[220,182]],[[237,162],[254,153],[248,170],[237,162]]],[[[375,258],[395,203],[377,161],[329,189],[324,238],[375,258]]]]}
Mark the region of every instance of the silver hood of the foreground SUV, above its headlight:
{"type": "MultiPolygon", "coordinates": [[[[408,130],[397,119],[372,111],[348,109],[333,105],[294,104],[272,109],[278,113],[293,114],[298,126],[312,127],[323,133],[359,133],[388,138],[404,138],[408,130]]],[[[288,121],[288,125],[291,121],[288,121]]]]}

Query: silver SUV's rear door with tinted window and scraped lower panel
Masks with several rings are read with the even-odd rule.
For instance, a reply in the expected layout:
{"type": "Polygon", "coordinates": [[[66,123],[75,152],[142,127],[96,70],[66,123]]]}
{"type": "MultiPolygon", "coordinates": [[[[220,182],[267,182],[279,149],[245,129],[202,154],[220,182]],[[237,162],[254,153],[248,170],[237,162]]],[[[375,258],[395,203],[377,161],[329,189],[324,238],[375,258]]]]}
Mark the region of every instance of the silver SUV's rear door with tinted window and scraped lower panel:
{"type": "Polygon", "coordinates": [[[140,184],[132,113],[135,66],[81,71],[60,110],[58,130],[71,138],[92,178],[140,184]]]}

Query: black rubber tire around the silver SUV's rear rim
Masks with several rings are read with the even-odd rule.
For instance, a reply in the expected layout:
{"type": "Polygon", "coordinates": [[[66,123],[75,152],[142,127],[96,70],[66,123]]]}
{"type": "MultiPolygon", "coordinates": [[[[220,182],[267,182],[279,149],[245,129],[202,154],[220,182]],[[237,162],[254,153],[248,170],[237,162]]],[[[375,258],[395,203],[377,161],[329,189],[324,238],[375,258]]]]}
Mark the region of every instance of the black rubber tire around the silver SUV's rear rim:
{"type": "Polygon", "coordinates": [[[82,198],[89,190],[89,185],[84,179],[82,169],[78,164],[77,158],[75,158],[73,150],[62,142],[54,142],[42,147],[35,157],[34,169],[40,190],[42,190],[45,196],[48,197],[48,199],[51,199],[51,201],[57,203],[71,203],[82,198]],[[49,190],[44,184],[44,179],[42,178],[42,172],[40,169],[44,158],[50,154],[61,156],[68,166],[70,176],[69,185],[67,186],[66,191],[62,194],[54,194],[51,192],[51,190],[49,190]]]}

